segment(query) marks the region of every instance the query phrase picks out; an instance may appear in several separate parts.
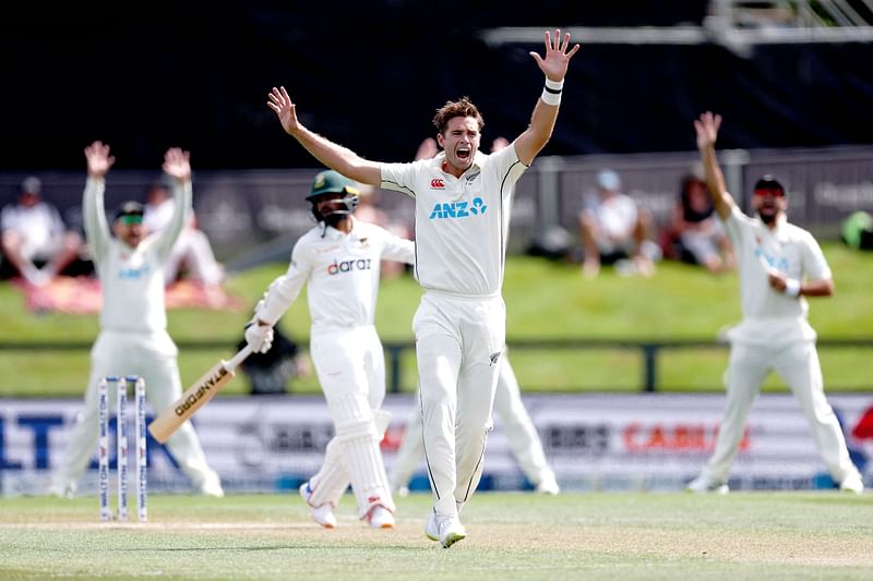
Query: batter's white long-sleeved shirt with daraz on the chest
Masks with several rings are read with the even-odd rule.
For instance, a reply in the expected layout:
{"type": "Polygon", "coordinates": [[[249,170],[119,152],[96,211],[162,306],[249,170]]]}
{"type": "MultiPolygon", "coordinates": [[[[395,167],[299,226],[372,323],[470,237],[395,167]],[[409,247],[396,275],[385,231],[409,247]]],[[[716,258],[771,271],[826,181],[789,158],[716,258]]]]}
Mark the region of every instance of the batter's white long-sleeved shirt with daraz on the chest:
{"type": "Polygon", "coordinates": [[[415,244],[354,218],[348,234],[316,226],[295,243],[287,273],[270,285],[256,316],[275,325],[308,285],[312,332],[372,325],[382,259],[414,264],[415,244]]]}

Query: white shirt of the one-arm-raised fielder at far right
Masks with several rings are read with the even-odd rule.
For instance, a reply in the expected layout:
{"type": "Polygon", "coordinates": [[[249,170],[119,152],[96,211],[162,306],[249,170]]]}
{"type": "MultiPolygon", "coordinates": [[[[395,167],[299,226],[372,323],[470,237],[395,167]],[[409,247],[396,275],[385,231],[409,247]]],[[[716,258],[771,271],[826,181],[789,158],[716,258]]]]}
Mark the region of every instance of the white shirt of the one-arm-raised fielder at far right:
{"type": "Polygon", "coordinates": [[[725,227],[737,253],[743,312],[743,320],[730,331],[730,339],[766,344],[814,340],[815,331],[806,320],[806,299],[773,289],[762,261],[796,280],[829,279],[830,267],[815,238],[788,223],[784,214],[770,230],[760,218],[744,215],[737,206],[725,227]]]}

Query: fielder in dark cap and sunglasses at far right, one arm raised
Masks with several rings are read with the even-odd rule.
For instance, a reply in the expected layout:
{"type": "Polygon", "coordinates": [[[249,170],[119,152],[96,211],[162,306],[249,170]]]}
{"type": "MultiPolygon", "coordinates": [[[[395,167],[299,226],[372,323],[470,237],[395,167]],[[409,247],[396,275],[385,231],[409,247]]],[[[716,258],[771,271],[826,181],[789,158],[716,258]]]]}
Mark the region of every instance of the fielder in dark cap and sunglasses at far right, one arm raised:
{"type": "Polygon", "coordinates": [[[693,492],[728,492],[728,473],[737,456],[749,410],[761,384],[774,370],[794,394],[810,423],[815,446],[834,482],[844,491],[864,488],[849,458],[837,416],[824,392],[815,349],[816,332],[806,315],[806,296],[830,296],[834,281],[818,243],[786,219],[786,192],[770,175],[755,184],[755,218],[745,216],[727,192],[716,159],[721,117],[706,112],[694,122],[706,182],[716,211],[733,243],[740,271],[742,322],[733,327],[726,374],[727,409],[716,449],[693,492]]]}

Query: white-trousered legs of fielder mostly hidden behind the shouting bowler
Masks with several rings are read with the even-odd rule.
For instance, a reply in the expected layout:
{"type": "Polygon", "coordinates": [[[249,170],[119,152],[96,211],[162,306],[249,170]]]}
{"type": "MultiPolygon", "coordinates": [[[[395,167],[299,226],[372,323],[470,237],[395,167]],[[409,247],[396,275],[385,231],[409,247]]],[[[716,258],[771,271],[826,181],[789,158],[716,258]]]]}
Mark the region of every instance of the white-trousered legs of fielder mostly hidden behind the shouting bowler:
{"type": "MultiPolygon", "coordinates": [[[[522,472],[534,485],[537,493],[559,494],[561,492],[554,472],[546,459],[542,441],[539,439],[537,427],[527,413],[522,400],[522,390],[518,379],[510,365],[505,354],[500,360],[500,375],[494,391],[494,411],[500,415],[501,425],[506,433],[510,450],[518,462],[522,472]]],[[[397,456],[388,472],[388,481],[393,491],[408,494],[409,479],[418,467],[424,451],[422,439],[421,409],[416,407],[406,421],[403,441],[397,450],[397,456]]]]}

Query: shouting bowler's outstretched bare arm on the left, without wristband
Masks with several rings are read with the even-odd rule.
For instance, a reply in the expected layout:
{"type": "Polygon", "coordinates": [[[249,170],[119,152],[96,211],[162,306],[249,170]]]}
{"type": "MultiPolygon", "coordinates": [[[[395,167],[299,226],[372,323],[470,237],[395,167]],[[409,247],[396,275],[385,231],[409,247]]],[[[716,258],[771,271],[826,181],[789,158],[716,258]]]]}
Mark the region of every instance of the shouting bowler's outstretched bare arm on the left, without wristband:
{"type": "Polygon", "coordinates": [[[300,123],[297,119],[297,106],[291,102],[285,87],[273,87],[267,98],[267,107],[279,118],[285,132],[297,140],[312,157],[351,180],[376,186],[381,184],[380,164],[363,159],[351,149],[309,131],[300,123]]]}

